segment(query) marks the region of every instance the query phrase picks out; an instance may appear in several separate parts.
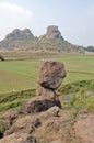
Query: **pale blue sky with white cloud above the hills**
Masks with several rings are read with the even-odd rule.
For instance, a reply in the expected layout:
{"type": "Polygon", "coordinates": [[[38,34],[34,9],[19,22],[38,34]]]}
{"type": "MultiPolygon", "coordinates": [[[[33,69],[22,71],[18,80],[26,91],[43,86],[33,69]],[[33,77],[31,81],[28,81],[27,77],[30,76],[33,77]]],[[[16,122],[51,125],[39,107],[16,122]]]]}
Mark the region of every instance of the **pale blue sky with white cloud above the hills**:
{"type": "Polygon", "coordinates": [[[94,0],[0,0],[0,41],[14,29],[39,36],[48,25],[72,44],[94,46],[94,0]]]}

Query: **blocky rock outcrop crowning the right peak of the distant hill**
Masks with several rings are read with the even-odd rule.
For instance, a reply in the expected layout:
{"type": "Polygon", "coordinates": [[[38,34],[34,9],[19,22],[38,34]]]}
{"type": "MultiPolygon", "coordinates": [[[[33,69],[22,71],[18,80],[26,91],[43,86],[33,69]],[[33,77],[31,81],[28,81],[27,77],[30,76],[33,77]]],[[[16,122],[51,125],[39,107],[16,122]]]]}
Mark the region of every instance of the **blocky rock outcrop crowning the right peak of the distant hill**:
{"type": "Polygon", "coordinates": [[[61,36],[60,31],[58,30],[58,26],[50,25],[47,28],[46,38],[60,38],[63,40],[61,36]]]}

